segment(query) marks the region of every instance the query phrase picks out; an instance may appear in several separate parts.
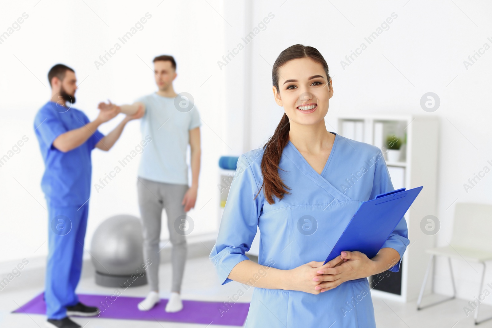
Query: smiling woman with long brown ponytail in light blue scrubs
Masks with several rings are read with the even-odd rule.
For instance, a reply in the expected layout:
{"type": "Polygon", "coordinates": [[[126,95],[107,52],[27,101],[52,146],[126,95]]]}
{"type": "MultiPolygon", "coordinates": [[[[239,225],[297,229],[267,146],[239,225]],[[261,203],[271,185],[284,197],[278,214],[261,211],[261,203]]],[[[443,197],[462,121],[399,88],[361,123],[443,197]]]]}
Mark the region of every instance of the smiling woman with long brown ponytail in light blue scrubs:
{"type": "Polygon", "coordinates": [[[210,259],[221,284],[256,287],[245,327],[376,327],[367,277],[400,269],[405,219],[373,258],[323,263],[360,203],[394,190],[381,150],[326,130],[333,83],[318,50],[285,49],[272,77],[285,113],[262,149],[240,156],[210,259]],[[258,264],[245,255],[257,226],[258,264]]]}

